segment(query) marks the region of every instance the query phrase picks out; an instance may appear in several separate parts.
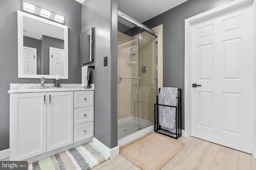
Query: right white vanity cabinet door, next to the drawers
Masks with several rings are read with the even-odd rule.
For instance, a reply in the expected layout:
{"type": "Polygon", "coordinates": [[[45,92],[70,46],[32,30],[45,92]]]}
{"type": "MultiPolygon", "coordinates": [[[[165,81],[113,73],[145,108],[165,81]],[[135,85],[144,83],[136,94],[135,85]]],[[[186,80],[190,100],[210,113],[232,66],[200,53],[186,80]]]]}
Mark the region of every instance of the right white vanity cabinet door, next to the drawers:
{"type": "Polygon", "coordinates": [[[73,92],[47,93],[47,151],[73,143],[73,92]]]}

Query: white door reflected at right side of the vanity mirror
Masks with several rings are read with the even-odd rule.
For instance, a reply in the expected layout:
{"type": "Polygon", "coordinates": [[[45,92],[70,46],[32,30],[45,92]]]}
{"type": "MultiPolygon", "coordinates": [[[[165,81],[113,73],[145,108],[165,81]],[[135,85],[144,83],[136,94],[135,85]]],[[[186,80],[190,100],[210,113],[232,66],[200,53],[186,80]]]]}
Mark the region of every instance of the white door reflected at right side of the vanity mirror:
{"type": "Polygon", "coordinates": [[[64,49],[57,49],[50,47],[50,75],[65,74],[65,51],[64,49]]]}

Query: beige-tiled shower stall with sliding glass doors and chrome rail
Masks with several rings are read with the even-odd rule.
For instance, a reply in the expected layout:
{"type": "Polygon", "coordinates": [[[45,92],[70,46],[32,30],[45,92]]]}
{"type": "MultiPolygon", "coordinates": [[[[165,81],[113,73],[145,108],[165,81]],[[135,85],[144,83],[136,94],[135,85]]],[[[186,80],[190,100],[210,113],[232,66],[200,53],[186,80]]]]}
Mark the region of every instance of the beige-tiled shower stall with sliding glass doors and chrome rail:
{"type": "Polygon", "coordinates": [[[157,35],[118,11],[118,139],[154,124],[157,35]]]}

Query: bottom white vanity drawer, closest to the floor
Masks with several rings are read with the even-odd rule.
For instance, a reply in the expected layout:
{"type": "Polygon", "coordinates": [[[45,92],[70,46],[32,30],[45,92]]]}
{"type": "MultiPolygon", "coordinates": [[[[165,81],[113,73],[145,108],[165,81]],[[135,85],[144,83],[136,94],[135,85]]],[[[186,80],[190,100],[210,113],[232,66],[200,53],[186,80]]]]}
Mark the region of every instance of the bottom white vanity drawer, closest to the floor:
{"type": "Polygon", "coordinates": [[[74,142],[82,141],[94,135],[93,121],[74,126],[74,142]]]}

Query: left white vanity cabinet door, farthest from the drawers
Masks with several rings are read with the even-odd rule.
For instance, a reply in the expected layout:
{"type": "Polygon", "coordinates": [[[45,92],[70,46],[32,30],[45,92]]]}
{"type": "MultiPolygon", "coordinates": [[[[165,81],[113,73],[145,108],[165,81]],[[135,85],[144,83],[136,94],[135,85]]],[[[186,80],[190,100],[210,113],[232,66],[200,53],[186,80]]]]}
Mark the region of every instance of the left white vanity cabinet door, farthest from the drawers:
{"type": "Polygon", "coordinates": [[[10,94],[10,160],[46,152],[46,93],[10,94]]]}

